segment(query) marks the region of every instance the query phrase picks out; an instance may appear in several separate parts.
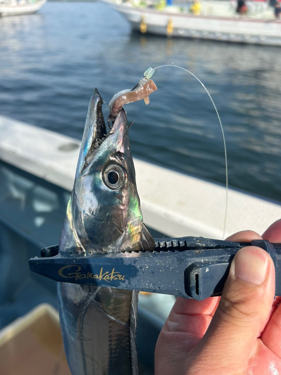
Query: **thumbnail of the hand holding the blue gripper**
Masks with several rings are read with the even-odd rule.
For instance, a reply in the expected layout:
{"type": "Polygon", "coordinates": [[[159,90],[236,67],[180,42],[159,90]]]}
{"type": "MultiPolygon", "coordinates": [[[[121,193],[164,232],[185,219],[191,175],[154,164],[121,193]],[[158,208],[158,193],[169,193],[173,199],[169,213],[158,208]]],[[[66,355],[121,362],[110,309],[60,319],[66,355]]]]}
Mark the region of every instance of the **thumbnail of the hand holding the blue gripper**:
{"type": "Polygon", "coordinates": [[[265,281],[268,269],[266,252],[256,247],[243,248],[235,257],[234,274],[252,284],[260,285],[265,281]]]}

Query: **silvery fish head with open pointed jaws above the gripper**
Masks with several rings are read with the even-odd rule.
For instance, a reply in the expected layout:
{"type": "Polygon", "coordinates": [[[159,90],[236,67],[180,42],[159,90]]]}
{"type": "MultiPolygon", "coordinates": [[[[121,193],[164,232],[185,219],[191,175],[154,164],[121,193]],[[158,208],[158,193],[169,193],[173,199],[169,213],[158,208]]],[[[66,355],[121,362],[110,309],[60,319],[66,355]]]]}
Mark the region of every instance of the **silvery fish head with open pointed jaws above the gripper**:
{"type": "Polygon", "coordinates": [[[122,252],[153,248],[142,221],[126,112],[107,132],[103,100],[91,98],[60,252],[122,252]]]}

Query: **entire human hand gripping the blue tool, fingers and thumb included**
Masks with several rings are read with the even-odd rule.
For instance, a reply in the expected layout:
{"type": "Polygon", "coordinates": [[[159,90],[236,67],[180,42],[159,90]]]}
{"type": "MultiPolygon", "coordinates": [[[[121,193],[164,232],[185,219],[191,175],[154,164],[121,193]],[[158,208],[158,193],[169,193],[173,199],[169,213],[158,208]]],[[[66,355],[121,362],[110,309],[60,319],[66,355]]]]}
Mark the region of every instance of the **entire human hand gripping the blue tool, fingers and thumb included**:
{"type": "MultiPolygon", "coordinates": [[[[281,242],[281,219],[262,237],[242,231],[227,240],[281,242]]],[[[281,374],[281,297],[275,270],[262,249],[236,254],[221,297],[178,297],[155,348],[155,375],[281,374]]]]}

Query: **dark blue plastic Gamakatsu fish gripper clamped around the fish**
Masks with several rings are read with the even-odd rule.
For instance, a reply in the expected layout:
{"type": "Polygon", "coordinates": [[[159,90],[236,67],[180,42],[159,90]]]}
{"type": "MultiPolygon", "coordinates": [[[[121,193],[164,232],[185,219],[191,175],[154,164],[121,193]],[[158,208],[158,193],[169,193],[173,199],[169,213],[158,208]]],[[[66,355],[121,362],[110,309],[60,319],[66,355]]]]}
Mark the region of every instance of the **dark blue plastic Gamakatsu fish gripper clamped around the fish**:
{"type": "Polygon", "coordinates": [[[56,281],[118,289],[172,294],[203,300],[220,296],[230,263],[244,246],[267,251],[276,271],[276,295],[281,295],[281,243],[250,243],[180,237],[154,239],[146,252],[61,255],[58,245],[29,260],[30,270],[56,281]]]}

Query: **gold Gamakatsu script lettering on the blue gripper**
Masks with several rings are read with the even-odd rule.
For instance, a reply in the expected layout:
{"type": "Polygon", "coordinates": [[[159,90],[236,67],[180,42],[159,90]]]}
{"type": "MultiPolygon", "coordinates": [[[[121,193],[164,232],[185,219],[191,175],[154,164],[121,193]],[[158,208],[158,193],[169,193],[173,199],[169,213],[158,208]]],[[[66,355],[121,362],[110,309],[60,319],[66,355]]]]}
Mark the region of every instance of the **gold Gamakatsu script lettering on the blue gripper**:
{"type": "Polygon", "coordinates": [[[81,280],[81,279],[99,279],[100,281],[103,280],[103,281],[107,281],[107,282],[111,282],[111,281],[115,281],[115,280],[125,281],[125,275],[121,275],[120,272],[115,271],[115,268],[113,268],[111,272],[109,272],[109,271],[103,272],[103,267],[101,267],[100,272],[96,275],[93,275],[92,272],[87,272],[87,274],[86,274],[86,273],[82,273],[82,272],[79,272],[79,271],[81,271],[81,266],[78,266],[78,264],[70,264],[69,266],[61,267],[58,270],[58,274],[62,278],[75,279],[75,281],[78,281],[78,280],[81,280]],[[76,272],[66,273],[65,270],[69,267],[76,267],[76,269],[75,269],[76,272]]]}

